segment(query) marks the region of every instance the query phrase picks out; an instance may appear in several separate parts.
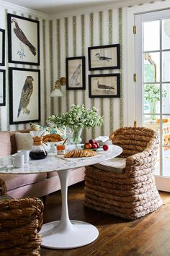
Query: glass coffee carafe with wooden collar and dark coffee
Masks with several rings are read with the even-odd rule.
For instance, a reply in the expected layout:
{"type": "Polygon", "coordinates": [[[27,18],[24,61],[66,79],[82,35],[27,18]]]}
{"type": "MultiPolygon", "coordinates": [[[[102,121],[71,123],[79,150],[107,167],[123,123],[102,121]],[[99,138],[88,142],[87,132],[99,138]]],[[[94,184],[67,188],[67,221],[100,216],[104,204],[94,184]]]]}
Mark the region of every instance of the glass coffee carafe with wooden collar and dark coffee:
{"type": "Polygon", "coordinates": [[[32,150],[30,151],[30,158],[32,160],[39,160],[45,158],[48,153],[45,151],[42,145],[42,135],[44,131],[31,131],[30,135],[33,139],[32,150]]]}

